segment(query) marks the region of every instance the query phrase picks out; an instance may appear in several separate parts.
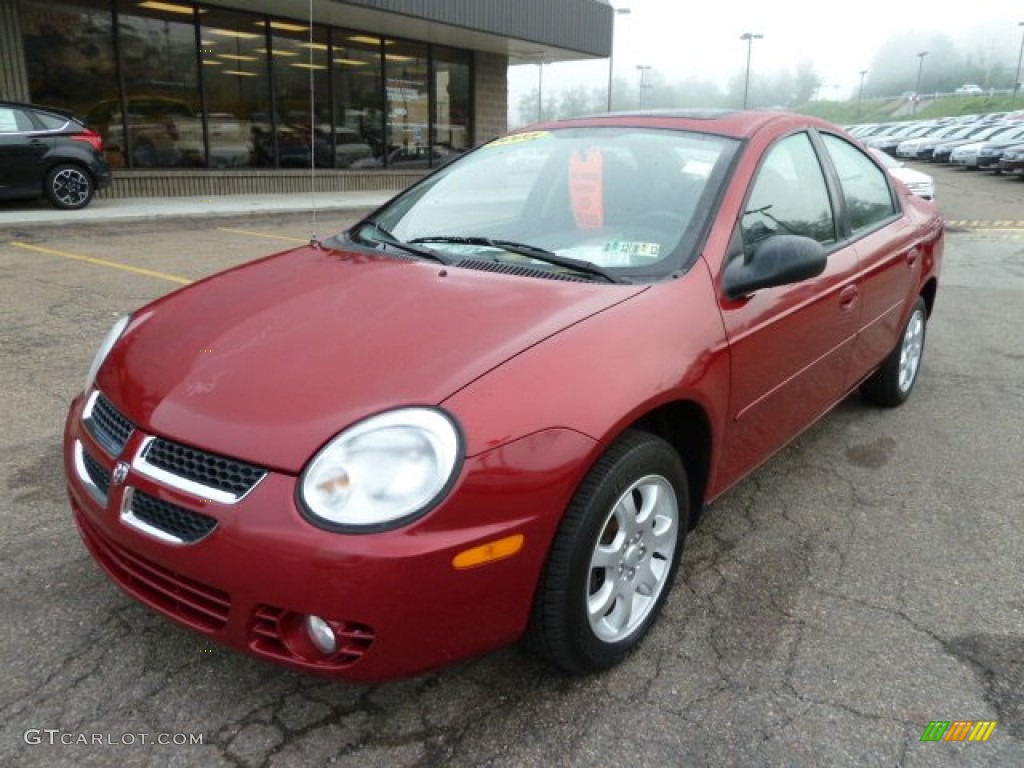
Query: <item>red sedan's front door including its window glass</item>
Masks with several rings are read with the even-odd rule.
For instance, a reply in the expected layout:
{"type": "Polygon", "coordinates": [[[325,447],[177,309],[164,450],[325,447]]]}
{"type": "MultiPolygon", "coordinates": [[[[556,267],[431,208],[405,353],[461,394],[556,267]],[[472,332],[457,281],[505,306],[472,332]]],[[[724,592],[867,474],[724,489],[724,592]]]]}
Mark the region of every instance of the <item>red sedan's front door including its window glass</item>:
{"type": "Polygon", "coordinates": [[[731,484],[782,447],[847,391],[859,322],[857,253],[838,242],[825,177],[807,133],[776,142],[754,178],[730,258],[757,258],[774,234],[828,251],[822,274],[721,297],[732,361],[729,421],[715,484],[731,484]]]}

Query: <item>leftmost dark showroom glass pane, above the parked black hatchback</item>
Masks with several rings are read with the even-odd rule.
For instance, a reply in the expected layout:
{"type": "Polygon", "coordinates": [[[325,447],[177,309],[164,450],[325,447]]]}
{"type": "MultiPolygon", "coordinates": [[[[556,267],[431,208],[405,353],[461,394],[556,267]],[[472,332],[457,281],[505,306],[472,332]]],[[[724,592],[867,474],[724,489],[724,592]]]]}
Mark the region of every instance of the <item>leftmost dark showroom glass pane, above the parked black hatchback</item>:
{"type": "Polygon", "coordinates": [[[90,121],[111,165],[124,165],[108,130],[110,115],[120,122],[121,113],[110,0],[22,0],[19,9],[32,100],[90,121]],[[105,119],[93,123],[90,115],[105,119]]]}

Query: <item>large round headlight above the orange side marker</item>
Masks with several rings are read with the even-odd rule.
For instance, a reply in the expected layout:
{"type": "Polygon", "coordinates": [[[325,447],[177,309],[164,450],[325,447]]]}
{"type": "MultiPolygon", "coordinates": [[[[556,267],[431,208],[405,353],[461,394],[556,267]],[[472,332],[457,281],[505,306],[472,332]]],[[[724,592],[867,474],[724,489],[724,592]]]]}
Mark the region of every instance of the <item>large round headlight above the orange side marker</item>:
{"type": "Polygon", "coordinates": [[[422,514],[449,490],[460,437],[440,411],[406,408],[346,429],[306,465],[299,501],[310,521],[381,530],[422,514]]]}

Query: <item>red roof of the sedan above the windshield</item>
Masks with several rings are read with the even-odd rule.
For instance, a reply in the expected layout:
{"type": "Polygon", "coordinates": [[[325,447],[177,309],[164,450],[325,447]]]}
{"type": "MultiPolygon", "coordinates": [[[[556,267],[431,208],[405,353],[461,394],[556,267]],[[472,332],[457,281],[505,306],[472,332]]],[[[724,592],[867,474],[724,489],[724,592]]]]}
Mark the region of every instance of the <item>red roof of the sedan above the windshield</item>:
{"type": "Polygon", "coordinates": [[[633,128],[669,128],[698,133],[716,133],[732,138],[749,138],[768,125],[787,123],[842,130],[834,123],[808,115],[777,110],[649,110],[620,112],[566,118],[536,123],[521,131],[553,130],[569,127],[622,126],[633,128]]]}

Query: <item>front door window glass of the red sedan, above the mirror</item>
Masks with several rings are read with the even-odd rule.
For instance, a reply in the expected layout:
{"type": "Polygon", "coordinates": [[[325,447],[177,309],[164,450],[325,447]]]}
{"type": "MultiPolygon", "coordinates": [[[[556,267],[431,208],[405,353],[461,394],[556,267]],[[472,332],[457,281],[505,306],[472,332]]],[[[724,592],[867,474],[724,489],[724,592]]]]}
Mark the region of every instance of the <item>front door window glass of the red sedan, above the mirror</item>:
{"type": "Polygon", "coordinates": [[[806,133],[783,138],[765,156],[743,210],[744,250],[773,234],[836,242],[836,219],[817,155],[806,133]]]}

